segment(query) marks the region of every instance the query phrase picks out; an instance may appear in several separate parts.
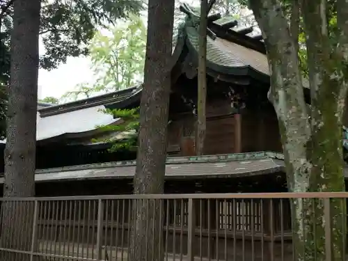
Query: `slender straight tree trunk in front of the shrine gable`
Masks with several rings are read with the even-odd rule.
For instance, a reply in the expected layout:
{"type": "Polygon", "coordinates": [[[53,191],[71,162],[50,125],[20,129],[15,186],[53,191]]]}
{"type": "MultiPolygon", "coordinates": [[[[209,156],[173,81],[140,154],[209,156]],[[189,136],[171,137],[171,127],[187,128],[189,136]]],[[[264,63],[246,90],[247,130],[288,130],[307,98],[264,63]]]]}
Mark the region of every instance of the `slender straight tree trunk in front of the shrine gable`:
{"type": "Polygon", "coordinates": [[[196,155],[203,155],[206,131],[206,100],[207,100],[207,12],[208,1],[200,1],[199,49],[198,49],[198,102],[196,155]]]}

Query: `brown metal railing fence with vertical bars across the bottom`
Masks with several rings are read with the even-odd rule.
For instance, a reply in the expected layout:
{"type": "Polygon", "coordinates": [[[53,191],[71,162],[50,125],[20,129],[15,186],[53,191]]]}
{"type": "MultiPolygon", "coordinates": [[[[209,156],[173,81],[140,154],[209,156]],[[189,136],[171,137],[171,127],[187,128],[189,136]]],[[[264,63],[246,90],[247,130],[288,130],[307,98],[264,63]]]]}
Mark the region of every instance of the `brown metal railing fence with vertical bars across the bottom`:
{"type": "Polygon", "coordinates": [[[323,226],[324,255],[331,261],[332,219],[347,222],[345,212],[335,212],[338,206],[346,206],[346,198],[348,193],[2,198],[0,258],[131,260],[134,238],[133,243],[145,251],[143,261],[162,257],[165,261],[296,260],[292,240],[295,236],[299,240],[296,232],[301,231],[301,222],[294,225],[291,219],[296,216],[303,221],[303,235],[323,226]],[[291,212],[291,206],[296,211],[291,212]],[[315,211],[320,206],[321,222],[315,211]],[[310,223],[304,223],[308,220],[310,223]],[[136,230],[137,237],[132,233],[135,227],[143,228],[136,230]]]}

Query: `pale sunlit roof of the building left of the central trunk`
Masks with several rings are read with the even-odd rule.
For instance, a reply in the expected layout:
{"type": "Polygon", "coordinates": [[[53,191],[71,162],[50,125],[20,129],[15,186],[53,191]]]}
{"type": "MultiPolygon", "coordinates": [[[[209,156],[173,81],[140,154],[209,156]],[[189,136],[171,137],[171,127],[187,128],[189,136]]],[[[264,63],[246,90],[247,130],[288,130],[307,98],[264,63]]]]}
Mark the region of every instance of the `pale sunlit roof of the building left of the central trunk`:
{"type": "MultiPolygon", "coordinates": [[[[128,88],[85,100],[47,106],[39,109],[36,117],[36,140],[42,141],[56,136],[90,134],[100,125],[111,125],[120,118],[103,112],[109,104],[127,106],[130,100],[139,100],[141,88],[128,88]]],[[[6,143],[6,141],[0,141],[6,143]]]]}

